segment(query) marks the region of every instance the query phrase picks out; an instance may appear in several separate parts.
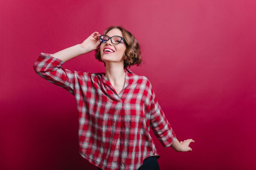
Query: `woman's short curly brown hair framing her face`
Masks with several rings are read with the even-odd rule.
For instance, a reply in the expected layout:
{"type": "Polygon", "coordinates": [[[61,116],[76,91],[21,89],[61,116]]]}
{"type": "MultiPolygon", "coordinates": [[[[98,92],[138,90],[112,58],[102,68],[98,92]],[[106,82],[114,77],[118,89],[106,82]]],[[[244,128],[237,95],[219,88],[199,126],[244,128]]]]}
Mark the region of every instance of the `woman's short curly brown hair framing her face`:
{"type": "MultiPolygon", "coordinates": [[[[132,35],[132,33],[130,33],[121,26],[110,26],[105,30],[104,35],[106,35],[108,31],[112,29],[119,29],[122,32],[123,38],[126,42],[126,51],[124,53],[124,68],[126,68],[127,66],[130,67],[132,65],[141,66],[142,57],[140,46],[135,37],[132,35]]],[[[100,46],[101,44],[99,44],[97,49],[95,49],[95,58],[101,62],[104,62],[103,60],[101,60],[100,46]]],[[[105,62],[104,66],[106,66],[105,62]]]]}

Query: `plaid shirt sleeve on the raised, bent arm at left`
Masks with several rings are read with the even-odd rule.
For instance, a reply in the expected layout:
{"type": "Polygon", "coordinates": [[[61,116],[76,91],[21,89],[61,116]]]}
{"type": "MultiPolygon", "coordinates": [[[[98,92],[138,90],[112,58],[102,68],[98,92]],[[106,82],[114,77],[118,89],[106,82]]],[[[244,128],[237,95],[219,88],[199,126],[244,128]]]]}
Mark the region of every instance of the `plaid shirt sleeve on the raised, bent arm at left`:
{"type": "Polygon", "coordinates": [[[64,88],[74,95],[74,71],[62,68],[61,66],[65,62],[51,55],[40,53],[34,63],[34,71],[47,81],[64,88]]]}

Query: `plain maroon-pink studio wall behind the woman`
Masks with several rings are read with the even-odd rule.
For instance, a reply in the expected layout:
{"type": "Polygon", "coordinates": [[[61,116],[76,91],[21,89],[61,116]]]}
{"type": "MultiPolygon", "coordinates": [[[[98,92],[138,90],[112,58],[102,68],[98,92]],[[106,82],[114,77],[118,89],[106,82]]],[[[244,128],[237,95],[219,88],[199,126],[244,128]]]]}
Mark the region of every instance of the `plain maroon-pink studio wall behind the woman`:
{"type": "MultiPolygon", "coordinates": [[[[0,2],[0,169],[96,170],[79,155],[74,96],[33,70],[92,32],[121,25],[141,44],[148,77],[179,141],[163,148],[161,170],[255,169],[256,1],[132,0],[0,2]]],[[[104,72],[88,53],[63,65],[104,72]]]]}

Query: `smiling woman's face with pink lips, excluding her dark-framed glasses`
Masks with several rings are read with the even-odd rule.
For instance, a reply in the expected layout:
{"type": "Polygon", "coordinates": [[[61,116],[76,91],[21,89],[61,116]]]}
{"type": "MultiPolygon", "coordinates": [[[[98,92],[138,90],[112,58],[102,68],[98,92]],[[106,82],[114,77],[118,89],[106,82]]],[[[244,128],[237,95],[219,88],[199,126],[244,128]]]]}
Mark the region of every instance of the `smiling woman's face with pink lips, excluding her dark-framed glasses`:
{"type": "MultiPolygon", "coordinates": [[[[118,35],[123,37],[122,32],[119,29],[112,29],[108,31],[106,34],[109,37],[118,35]]],[[[101,60],[104,62],[122,62],[124,63],[124,53],[126,51],[126,45],[122,40],[119,44],[112,44],[111,40],[109,39],[106,43],[101,44],[100,46],[101,51],[101,60]],[[113,52],[104,51],[106,48],[110,48],[113,52]]]]}

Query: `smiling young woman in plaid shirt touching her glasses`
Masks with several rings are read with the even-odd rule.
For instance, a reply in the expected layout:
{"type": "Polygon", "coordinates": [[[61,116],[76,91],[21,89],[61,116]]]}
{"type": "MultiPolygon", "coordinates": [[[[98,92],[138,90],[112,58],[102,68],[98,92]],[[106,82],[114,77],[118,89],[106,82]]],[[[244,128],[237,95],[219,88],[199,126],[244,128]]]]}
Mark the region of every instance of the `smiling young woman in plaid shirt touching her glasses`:
{"type": "Polygon", "coordinates": [[[75,96],[79,112],[79,153],[98,170],[159,170],[160,157],[150,128],[164,147],[192,151],[192,139],[179,142],[149,80],[128,67],[141,64],[139,44],[126,29],[111,26],[81,44],[54,54],[41,53],[38,75],[75,96]],[[106,73],[70,71],[68,60],[96,51],[106,73]]]}

